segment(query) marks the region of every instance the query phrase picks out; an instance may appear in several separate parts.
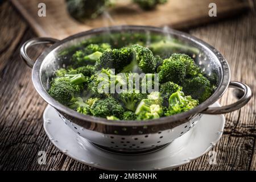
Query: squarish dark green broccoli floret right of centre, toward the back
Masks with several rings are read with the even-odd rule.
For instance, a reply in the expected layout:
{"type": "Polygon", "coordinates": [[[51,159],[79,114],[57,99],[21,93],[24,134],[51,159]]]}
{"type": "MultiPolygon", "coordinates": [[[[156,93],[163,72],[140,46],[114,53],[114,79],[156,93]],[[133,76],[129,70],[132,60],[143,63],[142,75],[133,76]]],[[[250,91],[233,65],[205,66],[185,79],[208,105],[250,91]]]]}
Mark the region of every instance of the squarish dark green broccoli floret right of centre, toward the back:
{"type": "Polygon", "coordinates": [[[176,57],[170,57],[163,61],[163,66],[159,74],[161,84],[172,81],[175,84],[181,84],[185,79],[186,65],[176,57]]]}

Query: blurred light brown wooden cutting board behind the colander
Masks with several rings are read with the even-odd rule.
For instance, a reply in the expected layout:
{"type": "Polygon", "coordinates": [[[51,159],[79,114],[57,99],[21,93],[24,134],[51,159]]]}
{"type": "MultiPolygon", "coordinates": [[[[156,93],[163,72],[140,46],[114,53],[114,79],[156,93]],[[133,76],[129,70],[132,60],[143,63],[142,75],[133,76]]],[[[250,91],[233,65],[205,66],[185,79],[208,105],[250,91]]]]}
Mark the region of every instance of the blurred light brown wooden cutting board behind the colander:
{"type": "Polygon", "coordinates": [[[50,36],[63,39],[77,32],[90,28],[113,26],[120,24],[139,24],[147,26],[171,26],[187,28],[200,23],[209,22],[227,16],[238,15],[249,7],[243,0],[216,0],[217,17],[209,17],[209,3],[212,0],[191,1],[170,0],[152,11],[142,11],[131,1],[117,1],[107,13],[96,19],[77,22],[69,16],[64,0],[11,0],[17,9],[28,20],[39,36],[50,36]],[[46,4],[46,17],[38,16],[38,4],[46,4]]]}

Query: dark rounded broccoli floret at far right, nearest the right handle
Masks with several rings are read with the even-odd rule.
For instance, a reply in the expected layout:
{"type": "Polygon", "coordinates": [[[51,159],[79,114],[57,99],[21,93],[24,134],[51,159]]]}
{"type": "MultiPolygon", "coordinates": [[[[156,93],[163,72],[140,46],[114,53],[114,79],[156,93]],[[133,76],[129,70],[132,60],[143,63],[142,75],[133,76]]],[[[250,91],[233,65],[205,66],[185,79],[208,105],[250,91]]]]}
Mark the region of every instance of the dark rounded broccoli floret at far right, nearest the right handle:
{"type": "Polygon", "coordinates": [[[212,94],[212,86],[210,81],[203,75],[186,79],[183,84],[183,92],[192,98],[203,102],[212,94]]]}

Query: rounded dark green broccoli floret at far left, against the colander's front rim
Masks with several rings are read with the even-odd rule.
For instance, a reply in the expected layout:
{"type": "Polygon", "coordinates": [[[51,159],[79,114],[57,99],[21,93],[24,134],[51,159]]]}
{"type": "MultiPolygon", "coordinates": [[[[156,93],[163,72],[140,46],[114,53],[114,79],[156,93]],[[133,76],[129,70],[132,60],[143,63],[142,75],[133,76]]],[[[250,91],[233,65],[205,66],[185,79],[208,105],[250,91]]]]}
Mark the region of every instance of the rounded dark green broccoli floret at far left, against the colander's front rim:
{"type": "Polygon", "coordinates": [[[51,82],[51,88],[48,94],[61,104],[67,105],[74,96],[75,87],[67,77],[55,78],[51,82]]]}

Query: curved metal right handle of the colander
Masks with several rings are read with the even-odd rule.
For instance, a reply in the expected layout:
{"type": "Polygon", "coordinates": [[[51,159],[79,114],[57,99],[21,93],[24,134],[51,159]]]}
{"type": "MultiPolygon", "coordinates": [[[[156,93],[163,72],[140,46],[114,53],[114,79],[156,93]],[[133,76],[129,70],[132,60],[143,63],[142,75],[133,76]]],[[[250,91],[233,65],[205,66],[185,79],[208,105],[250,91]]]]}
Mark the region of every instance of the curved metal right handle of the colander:
{"type": "Polygon", "coordinates": [[[208,107],[206,110],[201,111],[203,114],[225,114],[225,113],[230,113],[234,110],[238,110],[244,105],[247,104],[247,102],[250,101],[251,98],[251,89],[249,86],[246,84],[242,84],[241,82],[238,81],[230,81],[229,82],[229,87],[230,88],[236,88],[239,90],[242,90],[243,96],[235,103],[227,105],[227,106],[222,106],[222,107],[208,107]]]}

